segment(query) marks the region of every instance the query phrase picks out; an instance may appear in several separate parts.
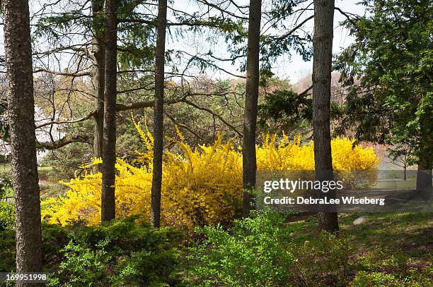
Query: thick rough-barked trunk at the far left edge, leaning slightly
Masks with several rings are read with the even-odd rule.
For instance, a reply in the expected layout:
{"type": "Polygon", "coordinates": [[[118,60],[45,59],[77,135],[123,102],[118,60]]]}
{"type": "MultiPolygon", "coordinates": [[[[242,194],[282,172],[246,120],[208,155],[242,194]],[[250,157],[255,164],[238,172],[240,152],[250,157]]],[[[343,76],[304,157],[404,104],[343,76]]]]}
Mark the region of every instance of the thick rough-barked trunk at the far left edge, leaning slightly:
{"type": "Polygon", "coordinates": [[[42,245],[28,1],[3,0],[3,9],[11,166],[16,204],[16,271],[37,272],[42,271],[42,245]]]}

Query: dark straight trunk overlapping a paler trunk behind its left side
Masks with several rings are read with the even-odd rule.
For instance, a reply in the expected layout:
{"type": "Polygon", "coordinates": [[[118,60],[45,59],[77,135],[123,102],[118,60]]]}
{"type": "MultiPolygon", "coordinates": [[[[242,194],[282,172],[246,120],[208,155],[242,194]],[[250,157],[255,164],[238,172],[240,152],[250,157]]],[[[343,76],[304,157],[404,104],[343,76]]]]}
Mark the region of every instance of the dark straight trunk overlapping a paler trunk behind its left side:
{"type": "Polygon", "coordinates": [[[115,218],[117,0],[105,0],[105,92],[101,220],[115,218]]]}

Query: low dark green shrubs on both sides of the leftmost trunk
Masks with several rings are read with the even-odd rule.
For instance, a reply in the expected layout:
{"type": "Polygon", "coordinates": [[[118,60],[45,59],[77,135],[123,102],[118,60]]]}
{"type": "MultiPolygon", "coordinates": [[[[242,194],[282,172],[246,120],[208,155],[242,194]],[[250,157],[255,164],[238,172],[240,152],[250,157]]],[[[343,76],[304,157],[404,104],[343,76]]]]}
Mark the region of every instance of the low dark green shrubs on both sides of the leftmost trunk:
{"type": "MultiPolygon", "coordinates": [[[[50,286],[166,286],[173,283],[183,233],[138,224],[137,216],[88,227],[42,225],[50,286]]],[[[15,234],[0,231],[0,271],[15,269],[15,234]]]]}

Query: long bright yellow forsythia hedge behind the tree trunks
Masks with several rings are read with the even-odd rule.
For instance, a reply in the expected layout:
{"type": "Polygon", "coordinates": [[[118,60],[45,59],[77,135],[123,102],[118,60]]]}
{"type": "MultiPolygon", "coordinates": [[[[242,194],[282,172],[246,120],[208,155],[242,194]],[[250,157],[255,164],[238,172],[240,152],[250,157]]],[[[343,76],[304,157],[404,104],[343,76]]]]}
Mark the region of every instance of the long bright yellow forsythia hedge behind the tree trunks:
{"type": "MultiPolygon", "coordinates": [[[[118,175],[115,181],[116,216],[142,214],[149,219],[151,208],[152,147],[149,130],[136,128],[146,145],[147,152],[140,154],[144,163],[135,167],[117,160],[118,175]]],[[[201,145],[192,149],[180,140],[173,140],[180,153],[165,152],[163,159],[161,222],[163,225],[202,226],[227,224],[241,209],[242,154],[231,140],[223,143],[219,135],[214,145],[201,145]]],[[[289,140],[283,135],[276,143],[276,135],[264,135],[262,145],[257,146],[260,170],[312,170],[314,169],[313,142],[301,145],[301,139],[289,140]]],[[[378,159],[373,149],[363,149],[347,138],[332,141],[334,169],[376,169],[378,159]]],[[[66,225],[84,220],[89,225],[100,222],[101,174],[92,166],[100,164],[96,159],[83,166],[83,176],[76,176],[68,183],[69,191],[62,197],[42,202],[42,218],[52,224],[66,225]]]]}

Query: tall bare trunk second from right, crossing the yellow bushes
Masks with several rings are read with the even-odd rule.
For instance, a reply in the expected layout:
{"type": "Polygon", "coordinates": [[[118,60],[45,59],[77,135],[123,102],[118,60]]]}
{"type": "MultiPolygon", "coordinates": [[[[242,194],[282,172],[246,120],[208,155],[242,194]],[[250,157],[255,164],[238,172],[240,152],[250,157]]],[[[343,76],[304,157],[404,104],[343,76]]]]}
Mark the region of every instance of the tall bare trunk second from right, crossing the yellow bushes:
{"type": "Polygon", "coordinates": [[[255,130],[257,126],[257,104],[259,87],[260,53],[260,17],[261,0],[250,0],[248,22],[247,75],[245,94],[245,114],[243,116],[243,216],[249,216],[253,208],[253,195],[249,191],[255,188],[257,162],[255,158],[255,130]]]}

